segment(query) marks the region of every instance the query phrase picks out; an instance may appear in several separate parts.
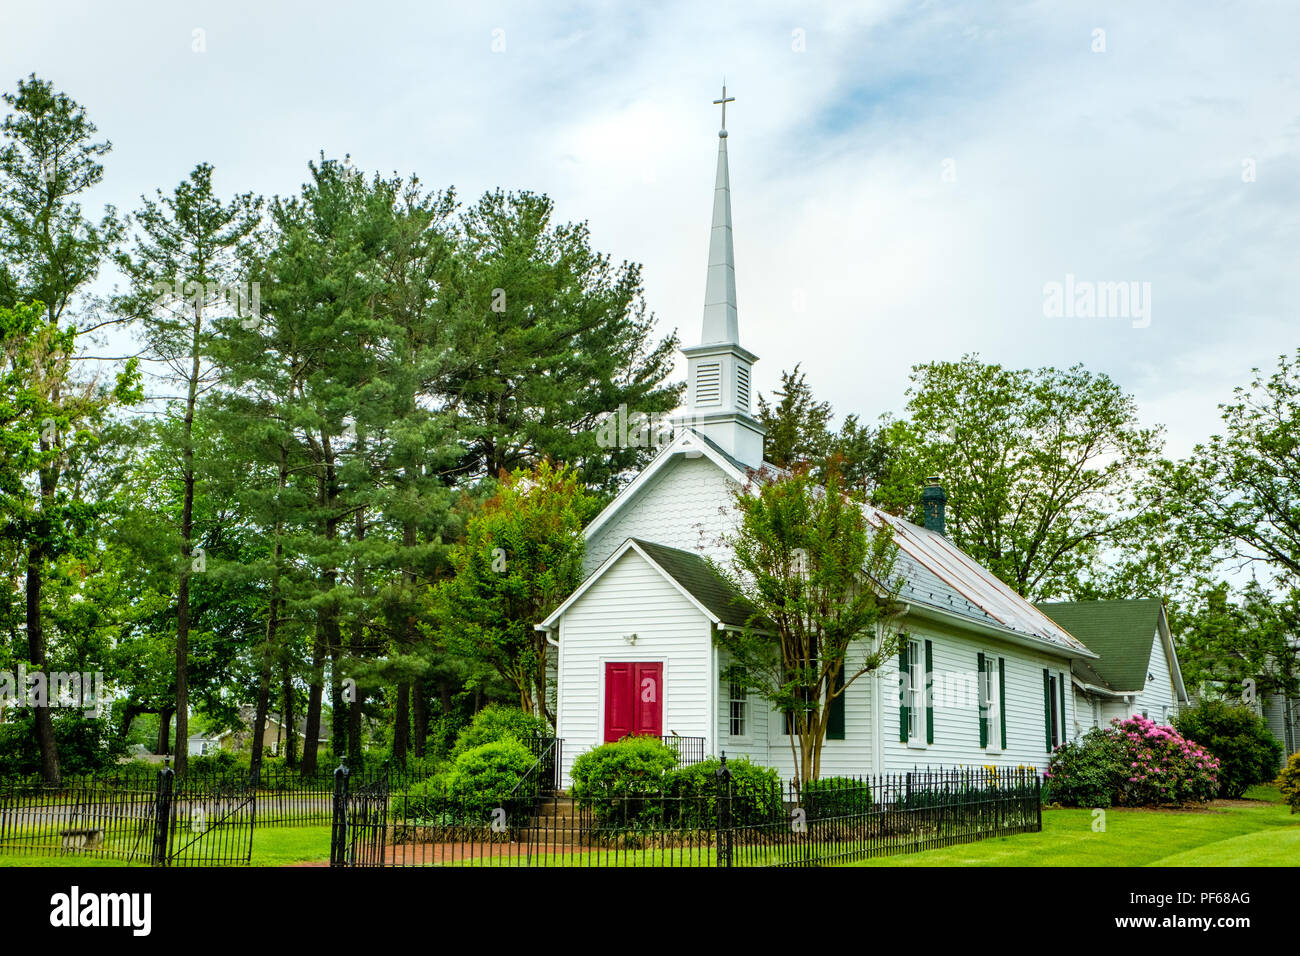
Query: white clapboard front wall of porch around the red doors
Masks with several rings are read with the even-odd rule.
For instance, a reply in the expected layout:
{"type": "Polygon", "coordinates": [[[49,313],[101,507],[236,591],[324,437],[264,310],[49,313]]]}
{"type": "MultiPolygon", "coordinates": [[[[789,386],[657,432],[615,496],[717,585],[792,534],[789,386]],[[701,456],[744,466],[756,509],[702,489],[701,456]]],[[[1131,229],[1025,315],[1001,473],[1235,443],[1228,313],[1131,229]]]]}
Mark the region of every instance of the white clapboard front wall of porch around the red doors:
{"type": "Polygon", "coordinates": [[[663,662],[663,732],[711,737],[710,620],[634,550],[560,619],[559,727],[564,786],[577,754],[604,740],[604,665],[663,662]],[[624,635],[636,633],[629,645],[624,635]]]}

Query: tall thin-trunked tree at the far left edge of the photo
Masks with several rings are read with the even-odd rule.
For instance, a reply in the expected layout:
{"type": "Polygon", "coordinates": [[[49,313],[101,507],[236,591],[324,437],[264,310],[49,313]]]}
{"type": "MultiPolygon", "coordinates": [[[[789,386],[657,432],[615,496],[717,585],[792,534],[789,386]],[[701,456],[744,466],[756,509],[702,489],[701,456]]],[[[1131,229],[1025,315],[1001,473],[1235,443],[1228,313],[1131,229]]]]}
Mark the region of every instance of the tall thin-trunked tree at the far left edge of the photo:
{"type": "MultiPolygon", "coordinates": [[[[73,364],[78,334],[98,328],[75,315],[74,298],[98,274],[121,229],[112,207],[96,224],[78,202],[103,178],[99,159],[110,146],[92,142],[96,129],[86,111],[35,74],[4,101],[13,112],[0,125],[0,306],[10,310],[4,350],[10,373],[6,428],[13,433],[6,445],[16,471],[3,537],[25,563],[29,653],[32,667],[43,667],[43,578],[60,554],[88,546],[94,510],[75,485],[69,490],[66,472],[87,464],[104,411],[114,401],[134,401],[136,367],[129,363],[116,389],[103,389],[73,364]],[[27,303],[39,303],[43,321],[27,303]],[[77,449],[69,447],[74,433],[77,449]],[[39,451],[20,451],[20,442],[39,451]]],[[[57,744],[48,709],[36,709],[34,732],[42,773],[55,782],[57,744]]]]}

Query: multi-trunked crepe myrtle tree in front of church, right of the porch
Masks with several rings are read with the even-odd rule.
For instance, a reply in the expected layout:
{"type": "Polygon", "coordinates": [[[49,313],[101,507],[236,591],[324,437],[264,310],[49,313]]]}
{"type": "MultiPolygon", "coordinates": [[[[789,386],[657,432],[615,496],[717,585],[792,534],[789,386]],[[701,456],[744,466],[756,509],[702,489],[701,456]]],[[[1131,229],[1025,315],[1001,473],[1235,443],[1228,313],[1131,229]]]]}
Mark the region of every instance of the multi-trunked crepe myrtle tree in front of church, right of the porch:
{"type": "Polygon", "coordinates": [[[802,787],[820,775],[832,702],[897,653],[897,548],[833,463],[824,484],[809,468],[757,479],[734,493],[733,564],[714,566],[751,614],[714,640],[731,678],[785,715],[802,787]]]}

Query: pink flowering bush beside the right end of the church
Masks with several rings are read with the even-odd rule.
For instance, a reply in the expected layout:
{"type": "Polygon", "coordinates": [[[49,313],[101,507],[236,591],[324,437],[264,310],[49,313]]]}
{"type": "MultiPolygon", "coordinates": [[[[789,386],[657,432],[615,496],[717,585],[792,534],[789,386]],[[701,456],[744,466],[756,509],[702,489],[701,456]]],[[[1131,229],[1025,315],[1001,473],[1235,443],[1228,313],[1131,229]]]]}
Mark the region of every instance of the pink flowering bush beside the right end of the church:
{"type": "Polygon", "coordinates": [[[1052,754],[1050,799],[1074,806],[1161,806],[1213,800],[1218,760],[1173,727],[1118,717],[1052,754]]]}

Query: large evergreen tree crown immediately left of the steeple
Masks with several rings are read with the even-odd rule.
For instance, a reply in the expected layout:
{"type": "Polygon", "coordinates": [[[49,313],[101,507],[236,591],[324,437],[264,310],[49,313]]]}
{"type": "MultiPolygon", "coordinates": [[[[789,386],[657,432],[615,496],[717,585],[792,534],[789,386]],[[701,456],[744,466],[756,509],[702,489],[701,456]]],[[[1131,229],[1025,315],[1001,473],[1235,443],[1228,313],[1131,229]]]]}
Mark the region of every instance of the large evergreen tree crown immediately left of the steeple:
{"type": "Polygon", "coordinates": [[[585,225],[555,225],[534,193],[489,193],[462,217],[463,295],[447,382],[465,454],[462,471],[498,476],[550,458],[615,489],[647,462],[647,445],[601,447],[608,415],[660,416],[681,398],[670,385],[676,336],[651,342],[641,269],[615,268],[585,225]]]}

